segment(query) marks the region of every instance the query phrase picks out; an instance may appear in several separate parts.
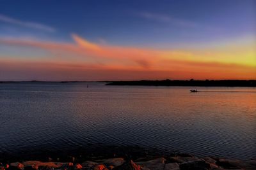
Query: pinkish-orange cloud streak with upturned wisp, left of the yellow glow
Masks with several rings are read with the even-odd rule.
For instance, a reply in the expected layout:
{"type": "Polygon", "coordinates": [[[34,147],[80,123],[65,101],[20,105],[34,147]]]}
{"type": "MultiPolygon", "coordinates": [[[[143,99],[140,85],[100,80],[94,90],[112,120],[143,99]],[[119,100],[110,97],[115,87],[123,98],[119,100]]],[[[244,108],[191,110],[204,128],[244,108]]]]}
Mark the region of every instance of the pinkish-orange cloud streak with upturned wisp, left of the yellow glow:
{"type": "MultiPolygon", "coordinates": [[[[4,45],[31,46],[43,48],[51,52],[70,52],[83,57],[93,59],[109,59],[111,62],[118,62],[122,66],[134,65],[138,67],[150,68],[156,64],[158,60],[164,59],[166,55],[173,59],[186,58],[188,53],[184,52],[161,52],[157,50],[120,47],[120,46],[102,46],[86,41],[86,39],[72,34],[72,38],[76,44],[72,43],[56,43],[49,41],[33,41],[24,39],[0,39],[0,43],[4,45]]],[[[106,62],[106,60],[105,60],[106,62]]],[[[153,66],[154,67],[154,66],[153,66]]]]}

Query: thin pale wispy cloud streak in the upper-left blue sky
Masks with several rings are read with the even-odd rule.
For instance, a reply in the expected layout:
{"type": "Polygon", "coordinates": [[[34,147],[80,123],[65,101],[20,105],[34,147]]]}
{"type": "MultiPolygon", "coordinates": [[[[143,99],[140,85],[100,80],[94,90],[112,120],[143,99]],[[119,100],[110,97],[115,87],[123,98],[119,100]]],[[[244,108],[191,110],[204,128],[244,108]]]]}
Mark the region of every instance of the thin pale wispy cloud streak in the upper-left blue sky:
{"type": "Polygon", "coordinates": [[[28,22],[28,21],[23,21],[23,20],[18,20],[15,18],[8,17],[6,15],[1,15],[0,14],[0,21],[1,22],[6,22],[9,24],[15,24],[15,25],[20,25],[22,27],[28,27],[32,29],[39,29],[42,31],[48,31],[48,32],[54,32],[55,29],[53,27],[50,27],[48,25],[40,24],[37,22],[28,22]]]}

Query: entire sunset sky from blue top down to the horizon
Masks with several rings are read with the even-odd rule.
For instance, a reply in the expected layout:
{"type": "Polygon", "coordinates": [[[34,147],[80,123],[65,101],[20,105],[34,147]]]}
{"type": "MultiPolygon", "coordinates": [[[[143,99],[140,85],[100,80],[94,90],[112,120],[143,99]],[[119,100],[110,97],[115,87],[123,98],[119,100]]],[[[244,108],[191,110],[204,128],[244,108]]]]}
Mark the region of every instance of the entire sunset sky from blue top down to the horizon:
{"type": "Polygon", "coordinates": [[[0,1],[0,81],[255,80],[255,0],[0,1]]]}

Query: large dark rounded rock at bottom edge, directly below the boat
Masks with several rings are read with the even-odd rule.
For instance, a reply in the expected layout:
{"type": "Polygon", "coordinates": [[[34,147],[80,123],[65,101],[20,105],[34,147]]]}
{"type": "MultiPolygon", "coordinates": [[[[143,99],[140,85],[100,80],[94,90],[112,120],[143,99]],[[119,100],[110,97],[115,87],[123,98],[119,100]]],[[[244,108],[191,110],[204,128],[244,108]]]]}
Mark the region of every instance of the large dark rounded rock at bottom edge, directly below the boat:
{"type": "Polygon", "coordinates": [[[204,160],[195,160],[180,164],[180,170],[210,170],[211,164],[204,160]]]}

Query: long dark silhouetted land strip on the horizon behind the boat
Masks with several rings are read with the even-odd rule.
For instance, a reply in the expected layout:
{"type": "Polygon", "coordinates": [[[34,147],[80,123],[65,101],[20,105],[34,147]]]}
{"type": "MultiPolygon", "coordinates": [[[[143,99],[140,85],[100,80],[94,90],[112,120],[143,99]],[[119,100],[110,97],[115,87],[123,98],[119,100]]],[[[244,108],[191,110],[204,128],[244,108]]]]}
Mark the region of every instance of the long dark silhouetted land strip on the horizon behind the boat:
{"type": "Polygon", "coordinates": [[[256,80],[139,80],[111,81],[106,85],[256,87],[256,80]]]}

